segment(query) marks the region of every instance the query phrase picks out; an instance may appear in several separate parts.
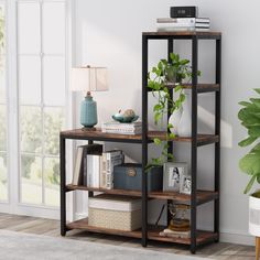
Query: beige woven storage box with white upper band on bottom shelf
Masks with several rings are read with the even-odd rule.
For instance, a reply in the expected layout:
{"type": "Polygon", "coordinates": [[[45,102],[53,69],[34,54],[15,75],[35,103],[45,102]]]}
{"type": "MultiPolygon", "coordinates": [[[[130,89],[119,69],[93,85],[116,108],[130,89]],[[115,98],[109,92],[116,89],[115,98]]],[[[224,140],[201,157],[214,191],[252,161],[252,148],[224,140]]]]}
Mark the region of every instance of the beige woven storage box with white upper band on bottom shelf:
{"type": "Polygon", "coordinates": [[[88,224],[94,227],[132,231],[141,227],[141,199],[100,194],[88,202],[88,224]]]}

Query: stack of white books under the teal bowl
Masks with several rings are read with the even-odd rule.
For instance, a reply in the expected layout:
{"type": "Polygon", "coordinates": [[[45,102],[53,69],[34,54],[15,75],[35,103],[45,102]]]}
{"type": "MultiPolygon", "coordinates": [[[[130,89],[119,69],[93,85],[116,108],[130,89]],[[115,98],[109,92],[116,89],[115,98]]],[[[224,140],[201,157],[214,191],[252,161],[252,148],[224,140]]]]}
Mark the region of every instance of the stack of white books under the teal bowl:
{"type": "Polygon", "coordinates": [[[101,126],[101,131],[107,133],[118,133],[118,134],[141,134],[142,133],[142,122],[105,122],[101,126]]]}

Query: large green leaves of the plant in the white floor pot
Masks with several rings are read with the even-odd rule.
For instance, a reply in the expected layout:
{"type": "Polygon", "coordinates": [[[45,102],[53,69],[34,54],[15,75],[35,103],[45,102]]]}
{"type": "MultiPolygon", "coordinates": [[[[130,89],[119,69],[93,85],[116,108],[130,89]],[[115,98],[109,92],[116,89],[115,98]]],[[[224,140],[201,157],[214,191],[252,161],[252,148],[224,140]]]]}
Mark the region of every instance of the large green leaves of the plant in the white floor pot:
{"type": "MultiPolygon", "coordinates": [[[[254,90],[260,94],[260,88],[254,90]]],[[[250,98],[239,105],[242,108],[238,112],[238,118],[248,130],[248,137],[239,142],[239,147],[245,148],[254,143],[249,153],[239,161],[240,170],[250,175],[250,181],[243,191],[247,194],[254,182],[260,184],[260,98],[250,98]]]]}

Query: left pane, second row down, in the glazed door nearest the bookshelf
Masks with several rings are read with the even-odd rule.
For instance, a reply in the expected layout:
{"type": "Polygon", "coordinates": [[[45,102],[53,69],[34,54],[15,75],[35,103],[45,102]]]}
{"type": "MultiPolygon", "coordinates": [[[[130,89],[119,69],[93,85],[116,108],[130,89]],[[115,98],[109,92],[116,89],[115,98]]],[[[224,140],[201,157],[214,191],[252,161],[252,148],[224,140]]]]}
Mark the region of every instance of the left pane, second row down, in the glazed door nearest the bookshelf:
{"type": "Polygon", "coordinates": [[[22,105],[41,104],[41,59],[22,56],[19,64],[20,102],[22,105]]]}

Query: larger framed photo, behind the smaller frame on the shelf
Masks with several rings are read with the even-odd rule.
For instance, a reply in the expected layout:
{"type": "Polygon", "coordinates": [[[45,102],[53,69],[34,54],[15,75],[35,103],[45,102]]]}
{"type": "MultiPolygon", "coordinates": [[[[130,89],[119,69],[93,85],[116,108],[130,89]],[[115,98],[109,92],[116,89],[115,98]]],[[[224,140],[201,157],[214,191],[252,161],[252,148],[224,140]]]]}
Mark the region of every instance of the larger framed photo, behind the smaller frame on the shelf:
{"type": "Polygon", "coordinates": [[[187,175],[187,163],[164,163],[163,191],[180,192],[182,175],[187,175]]]}

